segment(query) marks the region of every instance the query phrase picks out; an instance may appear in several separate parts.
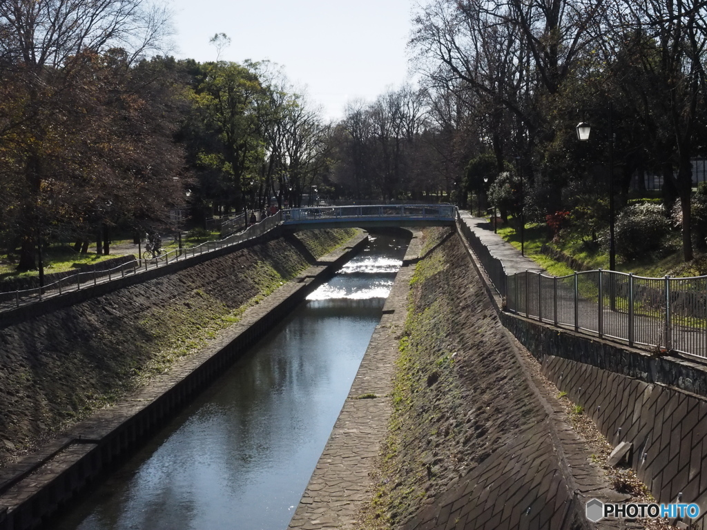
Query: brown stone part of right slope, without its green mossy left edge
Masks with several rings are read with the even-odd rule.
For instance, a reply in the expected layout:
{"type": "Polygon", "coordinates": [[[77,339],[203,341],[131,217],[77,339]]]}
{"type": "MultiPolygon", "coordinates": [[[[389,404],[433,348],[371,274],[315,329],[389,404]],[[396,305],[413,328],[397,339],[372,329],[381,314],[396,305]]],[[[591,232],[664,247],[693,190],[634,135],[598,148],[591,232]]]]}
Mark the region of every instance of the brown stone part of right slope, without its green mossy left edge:
{"type": "MultiPolygon", "coordinates": [[[[431,346],[420,343],[414,371],[425,377],[430,370],[431,363],[423,358],[427,351],[433,352],[433,365],[439,365],[436,359],[445,359],[440,356],[445,351],[454,355],[454,363],[447,375],[440,367],[435,384],[425,385],[423,379],[414,387],[411,399],[418,404],[412,412],[431,408],[432,416],[402,418],[411,430],[416,430],[415,422],[426,423],[416,434],[421,439],[416,445],[421,448],[414,459],[424,459],[431,452],[433,460],[428,467],[431,483],[425,487],[428,497],[423,497],[423,506],[400,527],[611,528],[607,522],[591,524],[584,517],[585,502],[592,497],[617,502],[626,495],[611,490],[603,471],[590,459],[585,442],[568,423],[556,393],[538,377],[537,364],[499,322],[472,264],[465,259],[464,251],[468,253],[469,248],[462,241],[462,237],[452,237],[430,253],[438,269],[432,267],[431,276],[419,278],[413,288],[418,294],[411,297],[411,312],[432,312],[434,326],[449,325],[443,341],[431,346]],[[450,394],[460,396],[458,404],[446,397],[450,394]],[[448,442],[455,437],[460,441],[448,442]],[[436,474],[453,459],[460,471],[457,476],[447,473],[448,480],[435,491],[436,474]]],[[[411,330],[411,343],[420,340],[416,335],[411,330]]],[[[416,377],[411,374],[411,379],[416,377]]],[[[409,451],[412,444],[406,445],[409,451]]]]}

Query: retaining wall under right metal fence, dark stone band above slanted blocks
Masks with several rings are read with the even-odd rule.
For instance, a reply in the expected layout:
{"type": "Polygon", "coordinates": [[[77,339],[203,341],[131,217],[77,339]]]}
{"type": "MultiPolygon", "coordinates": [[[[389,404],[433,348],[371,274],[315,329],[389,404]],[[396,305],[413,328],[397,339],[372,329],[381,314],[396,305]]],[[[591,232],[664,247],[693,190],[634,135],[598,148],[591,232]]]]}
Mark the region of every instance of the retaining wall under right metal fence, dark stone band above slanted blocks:
{"type": "Polygon", "coordinates": [[[501,322],[539,360],[544,375],[584,408],[614,447],[632,444],[631,466],[656,500],[695,502],[702,516],[682,522],[706,529],[707,365],[501,312],[500,298],[482,276],[501,322]]]}

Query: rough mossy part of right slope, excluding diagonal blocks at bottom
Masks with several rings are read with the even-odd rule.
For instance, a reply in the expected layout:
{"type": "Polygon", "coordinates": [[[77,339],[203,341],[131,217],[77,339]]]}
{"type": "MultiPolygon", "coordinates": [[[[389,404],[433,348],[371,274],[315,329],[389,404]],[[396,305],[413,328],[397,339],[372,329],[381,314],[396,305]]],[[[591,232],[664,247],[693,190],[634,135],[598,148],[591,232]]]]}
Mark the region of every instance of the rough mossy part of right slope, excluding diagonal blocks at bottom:
{"type": "MultiPolygon", "coordinates": [[[[517,440],[546,443],[534,429],[547,414],[460,240],[449,237],[448,230],[426,230],[428,252],[411,281],[380,487],[368,511],[368,528],[429,523],[428,517],[437,516],[428,513],[442,506],[442,499],[448,502],[457,491],[470,490],[464,481],[475,469],[497,464],[503,469],[517,440]]],[[[555,473],[553,466],[548,463],[555,473]]],[[[510,480],[522,484],[525,476],[510,480]]],[[[440,528],[455,524],[454,517],[440,528]]]]}

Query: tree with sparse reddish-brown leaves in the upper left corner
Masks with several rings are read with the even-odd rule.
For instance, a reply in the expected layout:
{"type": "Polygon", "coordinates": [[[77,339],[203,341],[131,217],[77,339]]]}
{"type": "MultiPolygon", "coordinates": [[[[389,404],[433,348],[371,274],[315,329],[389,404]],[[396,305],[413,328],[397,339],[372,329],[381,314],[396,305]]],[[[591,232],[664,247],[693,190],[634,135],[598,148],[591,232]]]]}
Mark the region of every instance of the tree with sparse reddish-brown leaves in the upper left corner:
{"type": "MultiPolygon", "coordinates": [[[[43,196],[48,183],[76,169],[63,153],[71,153],[66,142],[76,145],[83,133],[75,128],[79,114],[93,112],[97,122],[107,124],[101,115],[111,100],[93,105],[91,86],[100,86],[100,69],[106,66],[101,55],[121,49],[125,65],[135,64],[160,45],[167,14],[144,0],[0,2],[0,82],[13,87],[11,103],[0,115],[0,139],[11,145],[15,182],[22,190],[15,208],[23,249],[18,269],[35,268],[44,205],[57,207],[43,196]]],[[[91,152],[88,139],[82,145],[84,153],[91,152]]]]}

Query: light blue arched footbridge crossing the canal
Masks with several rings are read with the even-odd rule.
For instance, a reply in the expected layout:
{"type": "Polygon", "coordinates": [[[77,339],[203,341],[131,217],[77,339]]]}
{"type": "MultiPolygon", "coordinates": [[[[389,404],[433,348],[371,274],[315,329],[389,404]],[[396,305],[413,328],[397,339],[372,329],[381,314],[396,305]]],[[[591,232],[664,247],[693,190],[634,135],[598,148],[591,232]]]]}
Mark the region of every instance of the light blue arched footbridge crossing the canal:
{"type": "Polygon", "coordinates": [[[451,204],[320,206],[282,211],[282,224],[293,230],[452,226],[455,220],[457,208],[451,204]]]}

